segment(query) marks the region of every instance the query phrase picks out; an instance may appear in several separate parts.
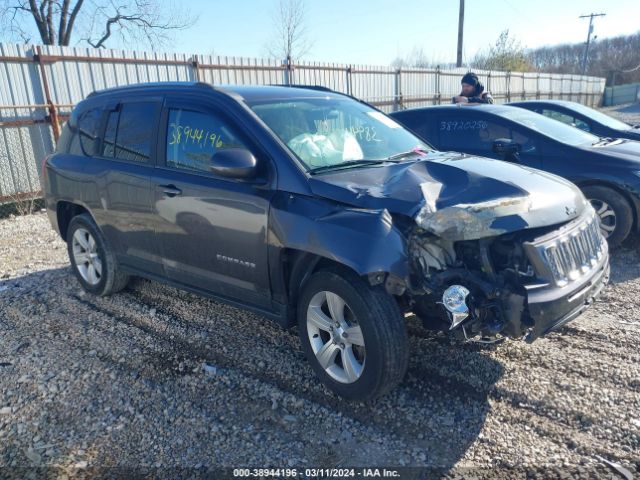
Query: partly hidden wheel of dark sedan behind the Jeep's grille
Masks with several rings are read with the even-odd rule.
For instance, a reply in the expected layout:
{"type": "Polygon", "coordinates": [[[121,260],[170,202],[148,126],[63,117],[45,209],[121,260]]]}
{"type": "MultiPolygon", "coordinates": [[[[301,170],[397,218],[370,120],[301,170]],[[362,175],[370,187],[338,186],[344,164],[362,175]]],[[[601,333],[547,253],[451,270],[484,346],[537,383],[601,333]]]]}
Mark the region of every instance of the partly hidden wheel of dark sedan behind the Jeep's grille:
{"type": "Polygon", "coordinates": [[[619,246],[629,236],[633,226],[633,210],[629,202],[618,192],[601,185],[582,189],[600,219],[600,231],[609,246],[619,246]]]}

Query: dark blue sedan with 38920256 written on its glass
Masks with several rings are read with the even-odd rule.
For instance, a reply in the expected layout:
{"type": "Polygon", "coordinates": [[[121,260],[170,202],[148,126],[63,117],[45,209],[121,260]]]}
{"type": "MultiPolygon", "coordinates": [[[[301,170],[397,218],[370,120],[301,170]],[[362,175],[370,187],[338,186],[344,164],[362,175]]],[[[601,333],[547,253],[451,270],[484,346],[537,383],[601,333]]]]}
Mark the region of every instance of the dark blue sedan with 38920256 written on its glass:
{"type": "Polygon", "coordinates": [[[612,247],[639,231],[640,142],[601,138],[505,105],[441,105],[391,116],[439,150],[517,162],[572,181],[598,212],[612,247]]]}

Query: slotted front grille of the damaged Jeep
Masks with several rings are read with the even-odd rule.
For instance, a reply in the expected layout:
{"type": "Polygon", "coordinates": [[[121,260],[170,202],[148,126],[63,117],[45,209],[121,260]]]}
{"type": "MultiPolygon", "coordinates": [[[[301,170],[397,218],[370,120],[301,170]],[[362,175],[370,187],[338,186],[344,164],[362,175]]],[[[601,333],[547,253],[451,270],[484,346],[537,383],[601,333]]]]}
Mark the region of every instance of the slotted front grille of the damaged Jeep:
{"type": "Polygon", "coordinates": [[[530,254],[535,252],[559,287],[589,273],[607,252],[607,242],[600,233],[598,217],[593,209],[568,230],[550,239],[534,241],[531,245],[535,245],[535,249],[530,250],[530,254]]]}

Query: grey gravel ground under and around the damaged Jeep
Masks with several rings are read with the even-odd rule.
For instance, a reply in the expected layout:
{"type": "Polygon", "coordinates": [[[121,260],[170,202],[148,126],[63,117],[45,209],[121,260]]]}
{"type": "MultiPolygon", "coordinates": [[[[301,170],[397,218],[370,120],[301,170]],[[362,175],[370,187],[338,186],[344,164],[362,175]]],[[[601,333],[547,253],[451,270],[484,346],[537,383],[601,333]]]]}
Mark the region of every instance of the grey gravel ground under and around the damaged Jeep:
{"type": "Polygon", "coordinates": [[[419,466],[623,478],[605,460],[640,474],[638,242],[613,252],[593,308],[532,345],[454,343],[409,318],[406,379],[374,404],[328,393],[296,332],[258,315],[146,280],[83,293],[43,213],[0,220],[0,278],[0,477],[419,466]]]}

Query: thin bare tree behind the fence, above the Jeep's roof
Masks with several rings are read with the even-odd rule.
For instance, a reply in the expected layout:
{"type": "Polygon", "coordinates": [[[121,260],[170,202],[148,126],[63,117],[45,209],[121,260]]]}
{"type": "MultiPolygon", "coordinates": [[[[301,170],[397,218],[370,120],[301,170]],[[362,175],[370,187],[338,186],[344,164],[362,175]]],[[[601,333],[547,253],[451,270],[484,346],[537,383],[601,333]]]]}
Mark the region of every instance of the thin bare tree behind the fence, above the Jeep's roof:
{"type": "Polygon", "coordinates": [[[274,38],[267,45],[268,54],[279,60],[304,57],[313,42],[305,25],[303,0],[279,0],[273,15],[274,38]]]}

